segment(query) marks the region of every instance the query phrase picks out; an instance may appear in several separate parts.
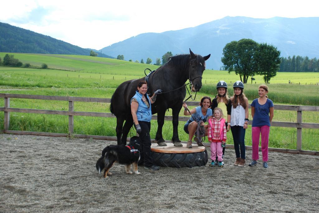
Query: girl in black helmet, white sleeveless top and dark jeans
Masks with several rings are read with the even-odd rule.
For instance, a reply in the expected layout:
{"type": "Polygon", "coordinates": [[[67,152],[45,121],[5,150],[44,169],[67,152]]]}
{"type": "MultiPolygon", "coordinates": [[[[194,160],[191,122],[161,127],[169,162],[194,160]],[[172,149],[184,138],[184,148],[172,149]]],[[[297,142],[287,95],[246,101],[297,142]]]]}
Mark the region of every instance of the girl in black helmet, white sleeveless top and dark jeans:
{"type": "Polygon", "coordinates": [[[233,85],[234,96],[230,98],[232,112],[230,129],[234,139],[236,153],[235,166],[243,167],[246,163],[245,132],[248,127],[248,99],[244,94],[244,84],[236,81],[233,85]]]}

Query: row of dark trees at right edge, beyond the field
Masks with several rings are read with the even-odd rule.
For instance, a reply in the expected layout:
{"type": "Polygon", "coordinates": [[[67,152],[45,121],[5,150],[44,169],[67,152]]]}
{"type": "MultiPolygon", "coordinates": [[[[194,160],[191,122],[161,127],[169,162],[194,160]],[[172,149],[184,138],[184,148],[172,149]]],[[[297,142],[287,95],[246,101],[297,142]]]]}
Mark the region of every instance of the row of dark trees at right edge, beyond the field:
{"type": "Polygon", "coordinates": [[[281,57],[278,72],[319,72],[319,60],[309,59],[308,56],[281,57]]]}

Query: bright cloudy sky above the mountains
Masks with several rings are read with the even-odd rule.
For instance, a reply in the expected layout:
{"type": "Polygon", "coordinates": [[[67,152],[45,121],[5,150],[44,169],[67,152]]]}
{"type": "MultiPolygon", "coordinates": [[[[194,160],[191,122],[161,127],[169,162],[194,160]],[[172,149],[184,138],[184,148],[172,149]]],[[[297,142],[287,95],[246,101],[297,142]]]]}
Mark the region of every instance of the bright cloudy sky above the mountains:
{"type": "Polygon", "coordinates": [[[141,33],[194,27],[225,16],[318,17],[318,6],[313,0],[13,0],[1,2],[0,22],[99,50],[141,33]]]}

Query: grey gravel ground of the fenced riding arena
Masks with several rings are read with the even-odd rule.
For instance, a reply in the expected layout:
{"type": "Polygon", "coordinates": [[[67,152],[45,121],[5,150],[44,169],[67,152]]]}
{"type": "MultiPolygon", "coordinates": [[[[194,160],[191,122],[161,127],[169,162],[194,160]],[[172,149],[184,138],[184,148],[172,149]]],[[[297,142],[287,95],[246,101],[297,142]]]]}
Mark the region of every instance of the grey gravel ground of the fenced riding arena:
{"type": "Polygon", "coordinates": [[[319,156],[271,152],[268,169],[237,167],[226,149],[223,168],[115,165],[102,178],[95,163],[110,144],[0,134],[0,212],[318,212],[319,156]]]}

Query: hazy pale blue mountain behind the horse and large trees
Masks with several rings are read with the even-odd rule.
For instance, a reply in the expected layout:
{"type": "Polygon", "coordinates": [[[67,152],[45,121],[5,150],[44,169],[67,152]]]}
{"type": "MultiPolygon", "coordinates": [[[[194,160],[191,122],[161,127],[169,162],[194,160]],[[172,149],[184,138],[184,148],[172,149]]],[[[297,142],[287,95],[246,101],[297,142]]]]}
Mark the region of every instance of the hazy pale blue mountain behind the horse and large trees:
{"type": "Polygon", "coordinates": [[[139,34],[102,48],[102,53],[114,57],[121,54],[125,60],[133,61],[146,61],[149,57],[155,62],[168,51],[175,55],[189,53],[190,48],[203,56],[211,53],[206,67],[219,69],[223,65],[220,59],[225,45],[243,38],[274,45],[282,57],[318,57],[319,17],[261,19],[227,16],[182,30],[139,34]]]}

